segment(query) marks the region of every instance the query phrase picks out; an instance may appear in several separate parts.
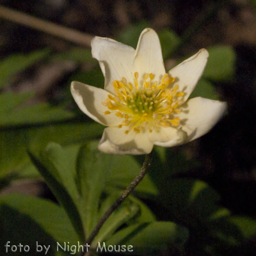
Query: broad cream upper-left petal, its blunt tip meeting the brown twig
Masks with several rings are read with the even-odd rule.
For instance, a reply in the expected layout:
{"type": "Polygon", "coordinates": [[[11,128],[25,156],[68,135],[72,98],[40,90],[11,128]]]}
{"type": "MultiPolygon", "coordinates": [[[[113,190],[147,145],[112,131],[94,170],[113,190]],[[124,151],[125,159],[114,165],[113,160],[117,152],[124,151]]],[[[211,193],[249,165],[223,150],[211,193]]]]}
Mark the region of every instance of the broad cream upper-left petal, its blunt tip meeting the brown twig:
{"type": "Polygon", "coordinates": [[[116,94],[113,81],[121,81],[125,77],[133,82],[132,61],[135,50],[110,38],[95,36],[92,40],[92,56],[99,60],[100,68],[105,77],[104,88],[116,94]]]}

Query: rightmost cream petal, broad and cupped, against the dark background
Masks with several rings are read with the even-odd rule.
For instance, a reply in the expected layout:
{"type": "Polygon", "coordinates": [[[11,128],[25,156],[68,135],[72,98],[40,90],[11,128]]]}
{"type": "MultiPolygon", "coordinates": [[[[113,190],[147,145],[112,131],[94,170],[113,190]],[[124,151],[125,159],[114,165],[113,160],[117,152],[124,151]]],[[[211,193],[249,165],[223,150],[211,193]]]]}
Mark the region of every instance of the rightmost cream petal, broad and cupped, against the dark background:
{"type": "Polygon", "coordinates": [[[182,131],[187,132],[188,140],[195,140],[209,132],[223,115],[227,104],[218,100],[196,97],[180,106],[179,114],[182,131]]]}

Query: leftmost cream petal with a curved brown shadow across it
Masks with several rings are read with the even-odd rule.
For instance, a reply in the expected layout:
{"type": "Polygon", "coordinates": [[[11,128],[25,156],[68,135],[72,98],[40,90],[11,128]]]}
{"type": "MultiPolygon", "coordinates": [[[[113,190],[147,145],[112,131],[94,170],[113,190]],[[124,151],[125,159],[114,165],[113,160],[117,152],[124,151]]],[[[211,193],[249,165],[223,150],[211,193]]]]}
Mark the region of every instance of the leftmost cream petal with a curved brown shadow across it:
{"type": "Polygon", "coordinates": [[[108,116],[104,114],[105,111],[108,111],[108,107],[103,106],[102,102],[106,102],[111,93],[76,81],[71,83],[71,93],[81,111],[96,122],[108,126],[116,126],[121,123],[120,117],[113,113],[108,116]]]}

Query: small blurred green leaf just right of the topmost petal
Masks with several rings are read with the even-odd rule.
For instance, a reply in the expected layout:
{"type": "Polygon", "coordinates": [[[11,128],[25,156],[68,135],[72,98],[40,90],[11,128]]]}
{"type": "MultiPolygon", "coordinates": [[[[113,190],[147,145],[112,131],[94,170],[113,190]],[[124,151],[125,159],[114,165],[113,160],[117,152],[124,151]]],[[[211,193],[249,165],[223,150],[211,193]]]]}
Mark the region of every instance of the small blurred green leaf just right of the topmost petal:
{"type": "Polygon", "coordinates": [[[166,58],[168,58],[176,49],[177,45],[180,44],[180,38],[173,30],[163,29],[159,33],[159,39],[161,42],[163,59],[166,60],[166,58]]]}

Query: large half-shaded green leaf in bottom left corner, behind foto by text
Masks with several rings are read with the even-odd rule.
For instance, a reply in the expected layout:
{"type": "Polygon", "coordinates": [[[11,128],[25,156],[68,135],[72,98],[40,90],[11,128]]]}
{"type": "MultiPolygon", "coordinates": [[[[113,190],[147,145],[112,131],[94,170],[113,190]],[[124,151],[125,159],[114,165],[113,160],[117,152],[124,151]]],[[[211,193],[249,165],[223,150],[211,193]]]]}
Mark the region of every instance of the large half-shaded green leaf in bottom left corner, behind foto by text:
{"type": "MultiPolygon", "coordinates": [[[[60,206],[44,199],[25,195],[8,195],[0,197],[0,246],[4,244],[29,245],[28,253],[11,253],[8,255],[35,255],[36,242],[49,246],[47,255],[67,255],[56,252],[56,242],[77,244],[77,237],[67,214],[60,206]]],[[[45,250],[44,250],[45,252],[45,250]]]]}

